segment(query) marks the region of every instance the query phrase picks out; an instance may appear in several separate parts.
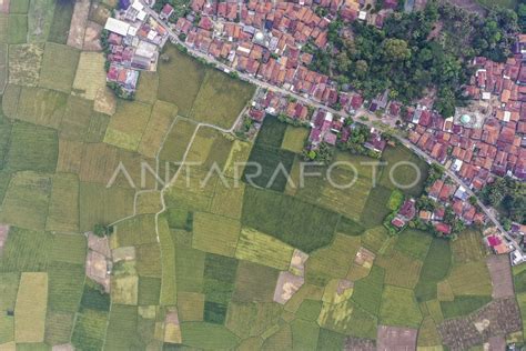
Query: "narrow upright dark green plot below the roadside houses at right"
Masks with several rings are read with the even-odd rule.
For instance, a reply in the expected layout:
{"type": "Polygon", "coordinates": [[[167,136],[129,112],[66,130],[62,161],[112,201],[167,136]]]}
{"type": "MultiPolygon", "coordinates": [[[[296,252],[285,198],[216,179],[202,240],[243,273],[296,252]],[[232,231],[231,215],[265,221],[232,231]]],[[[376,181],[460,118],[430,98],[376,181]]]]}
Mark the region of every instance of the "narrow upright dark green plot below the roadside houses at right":
{"type": "Polygon", "coordinates": [[[418,301],[436,299],[436,284],[444,280],[452,264],[452,250],[449,241],[434,238],[421,270],[421,277],[415,288],[418,301]]]}

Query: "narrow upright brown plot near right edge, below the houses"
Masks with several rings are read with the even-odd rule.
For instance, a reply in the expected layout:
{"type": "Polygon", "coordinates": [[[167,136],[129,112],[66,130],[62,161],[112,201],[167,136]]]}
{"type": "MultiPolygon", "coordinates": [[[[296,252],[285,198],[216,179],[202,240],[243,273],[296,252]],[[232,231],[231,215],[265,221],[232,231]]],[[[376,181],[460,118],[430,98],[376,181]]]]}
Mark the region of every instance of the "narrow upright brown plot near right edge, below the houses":
{"type": "Polygon", "coordinates": [[[514,292],[512,267],[507,254],[492,254],[486,259],[486,264],[492,277],[494,299],[512,298],[514,292]]]}

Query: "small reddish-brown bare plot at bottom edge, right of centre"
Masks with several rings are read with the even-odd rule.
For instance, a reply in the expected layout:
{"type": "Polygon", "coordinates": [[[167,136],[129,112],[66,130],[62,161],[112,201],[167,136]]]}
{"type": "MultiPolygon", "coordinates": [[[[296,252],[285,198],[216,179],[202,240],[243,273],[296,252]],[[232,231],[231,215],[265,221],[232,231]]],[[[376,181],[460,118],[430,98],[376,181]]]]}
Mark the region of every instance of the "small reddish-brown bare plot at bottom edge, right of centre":
{"type": "Polygon", "coordinates": [[[376,335],[376,350],[416,350],[417,329],[380,325],[376,335]]]}

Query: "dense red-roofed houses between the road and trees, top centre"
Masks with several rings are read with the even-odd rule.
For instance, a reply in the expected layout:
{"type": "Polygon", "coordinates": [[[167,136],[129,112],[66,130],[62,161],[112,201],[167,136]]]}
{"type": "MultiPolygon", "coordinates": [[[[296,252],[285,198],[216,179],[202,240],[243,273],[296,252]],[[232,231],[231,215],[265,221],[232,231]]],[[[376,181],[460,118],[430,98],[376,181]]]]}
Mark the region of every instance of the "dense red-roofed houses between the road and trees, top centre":
{"type": "MultiPolygon", "coordinates": [[[[377,13],[364,10],[372,4],[365,0],[193,0],[191,13],[179,18],[173,30],[190,48],[237,71],[335,106],[342,99],[336,83],[307,68],[313,54],[304,48],[324,50],[330,23],[336,18],[383,23],[397,0],[384,1],[377,13]]],[[[171,13],[170,4],[161,12],[168,18],[171,13]]]]}

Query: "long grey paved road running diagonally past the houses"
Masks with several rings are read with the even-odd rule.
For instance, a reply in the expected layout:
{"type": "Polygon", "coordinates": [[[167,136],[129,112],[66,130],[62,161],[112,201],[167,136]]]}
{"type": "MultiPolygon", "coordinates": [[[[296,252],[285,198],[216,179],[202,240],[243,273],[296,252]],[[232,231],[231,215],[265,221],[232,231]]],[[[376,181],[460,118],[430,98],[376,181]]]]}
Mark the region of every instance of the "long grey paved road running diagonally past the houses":
{"type": "MultiPolygon", "coordinates": [[[[216,61],[214,58],[201,52],[201,51],[198,51],[193,48],[190,48],[185,42],[182,42],[178,34],[163,21],[159,18],[159,14],[153,11],[151,8],[149,8],[148,6],[144,7],[145,11],[151,16],[153,17],[156,21],[159,21],[160,23],[162,23],[164,26],[164,28],[166,29],[166,31],[170,33],[171,37],[173,37],[175,39],[175,41],[183,46],[184,48],[188,49],[189,53],[191,53],[192,56],[194,57],[198,57],[198,58],[201,58],[203,60],[205,60],[206,62],[209,63],[213,63],[216,68],[219,69],[222,69],[223,71],[236,71],[234,68],[232,67],[229,67],[222,62],[219,62],[216,61]]],[[[322,109],[325,109],[334,114],[340,114],[340,116],[343,116],[343,117],[352,117],[347,113],[344,113],[342,111],[336,111],[323,103],[320,103],[318,101],[315,101],[313,99],[310,99],[310,98],[306,98],[304,96],[301,96],[301,94],[297,94],[293,91],[290,91],[290,90],[286,90],[286,89],[283,89],[283,88],[280,88],[280,87],[275,87],[273,84],[270,84],[267,82],[264,82],[264,81],[261,81],[252,76],[249,76],[244,72],[240,72],[240,71],[236,71],[240,79],[244,80],[244,81],[247,81],[247,82],[251,82],[253,83],[254,86],[256,87],[261,87],[261,88],[264,88],[264,89],[267,89],[267,90],[271,90],[271,91],[275,91],[275,92],[279,92],[279,93],[282,93],[282,94],[285,94],[285,96],[290,96],[290,97],[293,97],[295,98],[297,101],[301,101],[305,104],[310,104],[310,106],[313,106],[313,107],[316,107],[316,108],[322,108],[322,109]]],[[[357,111],[356,116],[354,116],[354,118],[356,117],[366,117],[368,120],[367,121],[361,121],[361,123],[364,123],[368,127],[373,127],[373,122],[374,121],[382,121],[382,119],[378,119],[374,113],[371,113],[368,112],[367,110],[365,109],[361,109],[357,111]]],[[[422,157],[424,160],[426,160],[428,163],[432,163],[432,162],[436,162],[434,159],[432,159],[427,153],[425,153],[424,151],[422,151],[419,148],[417,148],[416,146],[414,146],[413,143],[411,143],[407,139],[405,138],[402,138],[402,137],[398,137],[398,136],[394,136],[401,143],[403,143],[406,148],[411,149],[413,152],[415,152],[416,154],[418,154],[419,157],[422,157]]],[[[459,179],[454,172],[452,172],[451,170],[445,170],[446,174],[449,176],[457,184],[459,185],[463,185],[465,189],[466,189],[466,192],[471,195],[471,197],[476,197],[475,193],[469,189],[469,187],[467,184],[464,183],[464,181],[462,179],[459,179]]],[[[519,249],[518,244],[515,242],[515,240],[513,240],[513,238],[508,234],[508,232],[506,232],[504,230],[504,228],[500,225],[500,222],[497,220],[497,218],[495,217],[495,214],[493,213],[493,211],[487,208],[484,203],[482,203],[478,198],[477,198],[477,204],[481,207],[481,209],[484,211],[484,213],[487,215],[487,218],[495,224],[495,227],[497,227],[509,240],[510,242],[513,242],[515,249],[519,249]]]]}

